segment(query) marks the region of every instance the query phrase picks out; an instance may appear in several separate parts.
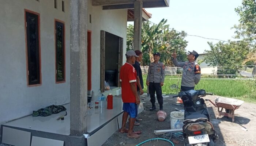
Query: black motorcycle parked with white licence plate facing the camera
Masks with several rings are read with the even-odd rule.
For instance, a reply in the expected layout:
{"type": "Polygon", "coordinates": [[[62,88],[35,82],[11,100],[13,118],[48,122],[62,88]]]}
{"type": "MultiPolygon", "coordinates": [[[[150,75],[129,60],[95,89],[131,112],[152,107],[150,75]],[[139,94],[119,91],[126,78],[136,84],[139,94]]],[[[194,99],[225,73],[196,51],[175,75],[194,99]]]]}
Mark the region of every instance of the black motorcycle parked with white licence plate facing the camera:
{"type": "MultiPolygon", "coordinates": [[[[178,88],[170,85],[171,89],[178,88]]],[[[181,91],[174,97],[181,97],[184,105],[184,125],[182,127],[184,146],[215,146],[218,135],[210,122],[210,115],[203,98],[212,95],[205,90],[181,91]]]]}

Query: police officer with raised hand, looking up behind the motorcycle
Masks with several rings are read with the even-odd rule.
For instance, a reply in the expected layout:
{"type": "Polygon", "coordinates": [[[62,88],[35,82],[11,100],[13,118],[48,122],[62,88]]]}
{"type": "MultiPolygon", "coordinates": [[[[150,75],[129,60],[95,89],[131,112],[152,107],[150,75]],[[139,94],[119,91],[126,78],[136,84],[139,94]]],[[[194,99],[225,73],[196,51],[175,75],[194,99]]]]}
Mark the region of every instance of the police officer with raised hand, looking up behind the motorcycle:
{"type": "Polygon", "coordinates": [[[182,67],[182,79],[181,79],[181,91],[188,91],[195,89],[195,85],[200,81],[201,78],[201,69],[199,64],[197,64],[196,58],[199,54],[196,51],[188,51],[189,54],[187,56],[188,61],[178,62],[176,51],[172,54],[173,56],[173,64],[177,67],[182,67]]]}

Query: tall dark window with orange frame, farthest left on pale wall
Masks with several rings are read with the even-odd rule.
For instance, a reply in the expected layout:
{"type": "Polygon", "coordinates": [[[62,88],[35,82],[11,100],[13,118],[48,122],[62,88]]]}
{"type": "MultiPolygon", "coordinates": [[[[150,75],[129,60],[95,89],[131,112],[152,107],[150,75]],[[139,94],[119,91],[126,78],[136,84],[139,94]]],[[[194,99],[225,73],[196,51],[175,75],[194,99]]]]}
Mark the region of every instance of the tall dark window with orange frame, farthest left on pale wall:
{"type": "Polygon", "coordinates": [[[28,85],[41,84],[39,14],[25,10],[28,85]]]}

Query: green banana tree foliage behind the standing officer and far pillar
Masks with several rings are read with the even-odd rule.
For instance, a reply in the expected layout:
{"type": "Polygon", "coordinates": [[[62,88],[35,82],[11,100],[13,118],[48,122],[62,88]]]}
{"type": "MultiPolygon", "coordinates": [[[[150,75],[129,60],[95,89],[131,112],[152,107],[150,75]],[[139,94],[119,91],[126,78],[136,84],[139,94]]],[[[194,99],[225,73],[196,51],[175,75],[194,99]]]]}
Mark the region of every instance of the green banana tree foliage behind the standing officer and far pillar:
{"type": "MultiPolygon", "coordinates": [[[[180,61],[186,59],[185,41],[186,33],[169,30],[166,25],[167,20],[162,19],[158,24],[152,24],[149,21],[142,22],[142,65],[148,65],[153,62],[153,54],[161,53],[160,61],[167,66],[172,66],[172,51],[175,49],[180,61]]],[[[133,25],[127,27],[127,50],[133,49],[133,25]]]]}

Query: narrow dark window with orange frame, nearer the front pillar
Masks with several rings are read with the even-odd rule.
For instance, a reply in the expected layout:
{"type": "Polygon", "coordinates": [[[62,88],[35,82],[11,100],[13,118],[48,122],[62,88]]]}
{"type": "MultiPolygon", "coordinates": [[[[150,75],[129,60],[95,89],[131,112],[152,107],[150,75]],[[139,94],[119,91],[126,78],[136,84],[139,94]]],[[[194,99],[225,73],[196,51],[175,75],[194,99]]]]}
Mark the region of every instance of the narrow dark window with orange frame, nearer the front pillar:
{"type": "Polygon", "coordinates": [[[63,22],[55,20],[55,54],[56,54],[56,82],[65,81],[65,26],[63,22]]]}

